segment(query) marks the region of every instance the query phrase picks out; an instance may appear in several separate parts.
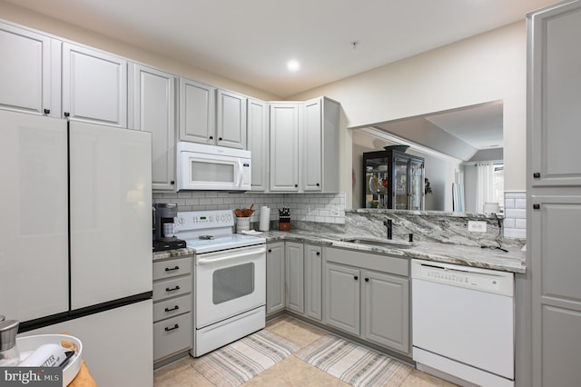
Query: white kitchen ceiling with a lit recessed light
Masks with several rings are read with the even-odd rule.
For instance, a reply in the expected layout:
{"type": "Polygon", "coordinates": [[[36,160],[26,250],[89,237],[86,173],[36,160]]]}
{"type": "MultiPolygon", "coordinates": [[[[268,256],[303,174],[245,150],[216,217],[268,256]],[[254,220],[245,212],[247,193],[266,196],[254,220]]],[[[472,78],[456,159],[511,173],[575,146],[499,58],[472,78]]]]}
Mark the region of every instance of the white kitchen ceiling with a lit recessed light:
{"type": "Polygon", "coordinates": [[[287,98],[555,0],[5,0],[287,98]],[[352,43],[357,42],[355,48],[352,43]],[[289,73],[286,62],[299,60],[289,73]]]}

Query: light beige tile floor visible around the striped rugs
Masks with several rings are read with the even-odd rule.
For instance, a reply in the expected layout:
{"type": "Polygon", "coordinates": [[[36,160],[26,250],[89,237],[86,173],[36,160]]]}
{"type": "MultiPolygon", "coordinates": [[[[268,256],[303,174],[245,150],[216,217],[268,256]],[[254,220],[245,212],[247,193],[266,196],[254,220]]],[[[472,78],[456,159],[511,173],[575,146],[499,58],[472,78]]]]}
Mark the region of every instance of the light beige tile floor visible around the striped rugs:
{"type": "MultiPolygon", "coordinates": [[[[300,345],[301,348],[315,342],[320,337],[329,334],[308,323],[292,318],[288,315],[271,320],[266,329],[275,332],[300,345]]],[[[183,359],[163,367],[153,373],[154,387],[206,387],[213,386],[199,372],[192,367],[193,358],[183,359]]],[[[301,361],[294,355],[282,362],[278,362],[260,375],[252,378],[244,386],[349,386],[345,382],[320,371],[307,362],[301,361]]],[[[412,371],[401,384],[402,387],[450,387],[455,384],[443,381],[418,370],[412,371]]]]}

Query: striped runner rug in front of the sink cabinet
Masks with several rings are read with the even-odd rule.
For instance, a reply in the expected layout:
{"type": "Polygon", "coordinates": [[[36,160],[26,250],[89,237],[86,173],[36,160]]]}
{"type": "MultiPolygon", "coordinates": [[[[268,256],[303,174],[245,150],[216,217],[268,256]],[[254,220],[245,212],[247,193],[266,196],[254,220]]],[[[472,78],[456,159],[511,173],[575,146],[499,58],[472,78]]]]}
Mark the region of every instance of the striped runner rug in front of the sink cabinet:
{"type": "Polygon", "coordinates": [[[352,386],[399,386],[412,371],[408,364],[336,336],[321,337],[294,355],[352,386]]]}

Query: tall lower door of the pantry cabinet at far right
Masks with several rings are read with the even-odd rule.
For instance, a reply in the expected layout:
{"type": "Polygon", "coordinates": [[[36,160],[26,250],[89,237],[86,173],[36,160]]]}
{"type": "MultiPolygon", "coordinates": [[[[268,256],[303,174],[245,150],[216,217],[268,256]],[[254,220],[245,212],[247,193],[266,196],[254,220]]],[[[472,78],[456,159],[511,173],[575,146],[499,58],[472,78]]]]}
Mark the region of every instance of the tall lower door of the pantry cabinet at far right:
{"type": "Polygon", "coordinates": [[[581,196],[538,196],[531,201],[533,282],[533,380],[539,386],[581,380],[581,196]],[[535,208],[535,207],[534,207],[535,208]]]}

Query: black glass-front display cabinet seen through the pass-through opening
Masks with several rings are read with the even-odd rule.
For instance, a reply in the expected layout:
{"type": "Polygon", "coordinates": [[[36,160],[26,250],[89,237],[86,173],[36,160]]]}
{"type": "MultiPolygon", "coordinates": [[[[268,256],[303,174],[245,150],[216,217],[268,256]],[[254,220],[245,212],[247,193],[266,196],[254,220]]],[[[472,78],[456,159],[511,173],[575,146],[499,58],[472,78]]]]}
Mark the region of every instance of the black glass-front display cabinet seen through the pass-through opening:
{"type": "Polygon", "coordinates": [[[424,210],[424,159],[395,150],[363,154],[363,208],[424,210]]]}

